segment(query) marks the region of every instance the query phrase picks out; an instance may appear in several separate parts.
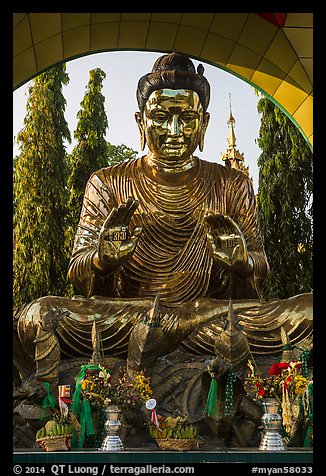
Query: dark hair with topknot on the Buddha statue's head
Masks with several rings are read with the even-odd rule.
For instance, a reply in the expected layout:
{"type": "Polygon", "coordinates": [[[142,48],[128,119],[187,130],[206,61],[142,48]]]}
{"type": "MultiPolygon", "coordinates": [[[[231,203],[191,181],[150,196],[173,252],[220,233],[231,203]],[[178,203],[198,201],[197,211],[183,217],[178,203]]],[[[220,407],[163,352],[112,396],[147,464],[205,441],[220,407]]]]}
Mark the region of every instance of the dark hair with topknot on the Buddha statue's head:
{"type": "Polygon", "coordinates": [[[207,110],[210,99],[210,86],[203,76],[204,67],[195,66],[188,56],[173,51],[160,56],[154,63],[151,73],[145,74],[138,81],[137,102],[140,112],[144,111],[147,99],[158,89],[190,89],[195,91],[200,102],[207,110]]]}

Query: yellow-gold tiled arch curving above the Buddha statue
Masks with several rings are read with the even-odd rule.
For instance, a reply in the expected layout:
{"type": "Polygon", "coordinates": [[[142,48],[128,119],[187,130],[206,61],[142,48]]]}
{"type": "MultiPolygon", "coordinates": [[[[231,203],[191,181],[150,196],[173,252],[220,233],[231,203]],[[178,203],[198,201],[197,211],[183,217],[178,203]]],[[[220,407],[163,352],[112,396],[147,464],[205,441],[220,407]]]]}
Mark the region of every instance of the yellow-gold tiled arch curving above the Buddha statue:
{"type": "Polygon", "coordinates": [[[14,89],[56,63],[85,54],[176,49],[257,87],[312,144],[312,17],[312,13],[14,13],[14,89]]]}

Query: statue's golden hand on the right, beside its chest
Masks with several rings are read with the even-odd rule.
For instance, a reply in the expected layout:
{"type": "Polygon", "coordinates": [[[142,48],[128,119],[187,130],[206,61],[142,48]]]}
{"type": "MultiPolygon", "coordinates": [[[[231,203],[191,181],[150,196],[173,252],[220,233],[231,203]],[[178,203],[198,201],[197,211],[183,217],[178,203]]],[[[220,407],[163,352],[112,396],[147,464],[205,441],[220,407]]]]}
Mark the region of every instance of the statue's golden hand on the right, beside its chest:
{"type": "Polygon", "coordinates": [[[240,276],[249,276],[253,270],[253,261],[248,255],[246,240],[237,223],[220,213],[209,213],[205,220],[208,225],[207,240],[214,260],[240,276]]]}

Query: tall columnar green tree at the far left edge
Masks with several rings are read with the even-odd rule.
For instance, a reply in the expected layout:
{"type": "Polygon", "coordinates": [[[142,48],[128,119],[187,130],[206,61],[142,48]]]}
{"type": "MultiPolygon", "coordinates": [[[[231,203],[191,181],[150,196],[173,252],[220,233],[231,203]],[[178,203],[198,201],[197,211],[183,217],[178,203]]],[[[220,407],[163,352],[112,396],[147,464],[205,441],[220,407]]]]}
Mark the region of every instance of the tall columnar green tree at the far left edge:
{"type": "Polygon", "coordinates": [[[65,182],[68,164],[64,140],[70,132],[64,118],[62,85],[65,65],[36,77],[29,89],[24,127],[17,135],[20,154],[14,160],[14,306],[37,297],[63,294],[65,182]]]}

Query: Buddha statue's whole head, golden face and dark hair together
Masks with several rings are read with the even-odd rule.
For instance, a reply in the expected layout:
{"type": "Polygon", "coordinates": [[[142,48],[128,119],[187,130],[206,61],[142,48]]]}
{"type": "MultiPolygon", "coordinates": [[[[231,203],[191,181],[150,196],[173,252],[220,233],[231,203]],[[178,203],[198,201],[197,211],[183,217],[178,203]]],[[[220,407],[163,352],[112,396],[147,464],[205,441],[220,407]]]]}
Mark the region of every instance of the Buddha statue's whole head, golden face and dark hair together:
{"type": "Polygon", "coordinates": [[[203,150],[210,99],[203,73],[202,65],[196,72],[187,56],[173,52],[158,58],[138,82],[141,148],[147,143],[152,158],[167,167],[186,169],[196,148],[203,150]]]}

